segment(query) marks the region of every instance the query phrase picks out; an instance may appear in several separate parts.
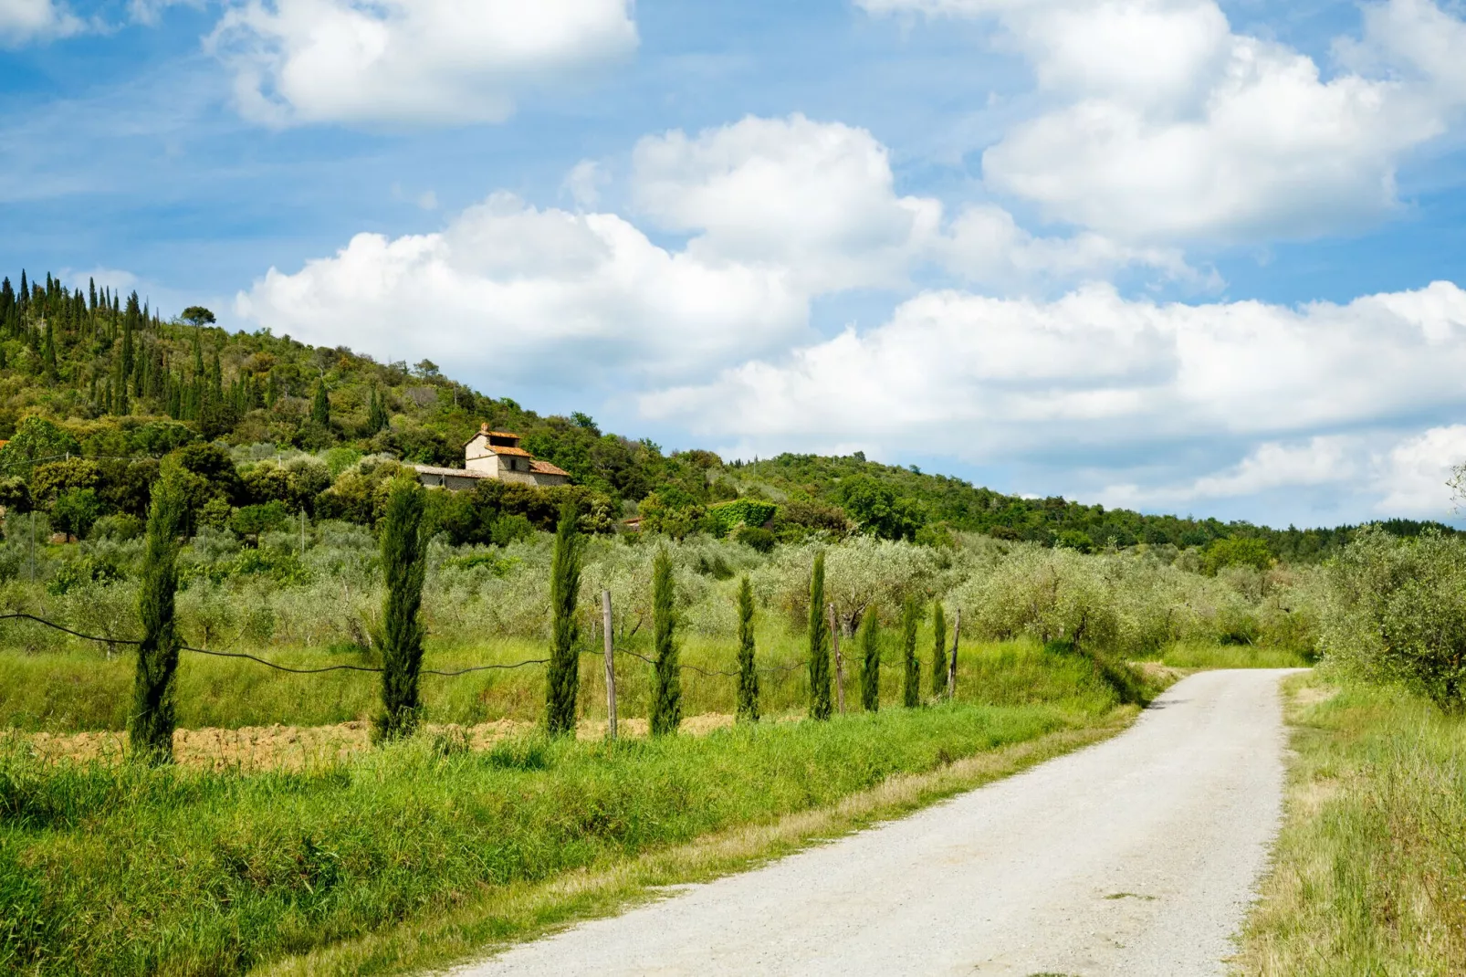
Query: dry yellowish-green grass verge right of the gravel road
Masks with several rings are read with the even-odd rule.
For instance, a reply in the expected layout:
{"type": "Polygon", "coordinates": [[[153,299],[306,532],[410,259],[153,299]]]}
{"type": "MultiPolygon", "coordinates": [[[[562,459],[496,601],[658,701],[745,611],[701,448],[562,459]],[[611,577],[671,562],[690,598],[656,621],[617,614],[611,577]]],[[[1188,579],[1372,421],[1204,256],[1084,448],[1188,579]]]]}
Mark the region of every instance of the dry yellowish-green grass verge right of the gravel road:
{"type": "Polygon", "coordinates": [[[1314,675],[1284,689],[1286,819],[1236,968],[1466,973],[1466,719],[1314,675]]]}

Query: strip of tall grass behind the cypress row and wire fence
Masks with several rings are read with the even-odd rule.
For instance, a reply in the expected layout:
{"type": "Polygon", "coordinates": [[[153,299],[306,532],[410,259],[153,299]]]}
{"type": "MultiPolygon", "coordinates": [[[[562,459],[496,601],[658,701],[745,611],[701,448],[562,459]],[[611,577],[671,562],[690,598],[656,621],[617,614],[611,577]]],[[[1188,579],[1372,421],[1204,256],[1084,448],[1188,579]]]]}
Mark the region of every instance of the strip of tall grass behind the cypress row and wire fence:
{"type": "MultiPolygon", "coordinates": [[[[629,647],[649,648],[641,637],[629,647]]],[[[890,637],[890,635],[887,635],[890,637]]],[[[853,643],[844,648],[846,700],[859,703],[859,675],[853,643]]],[[[929,654],[922,635],[922,657],[929,654]]],[[[271,662],[296,667],[374,665],[355,645],[339,648],[274,648],[261,653],[271,662]]],[[[765,713],[800,711],[808,701],[805,648],[799,635],[774,625],[759,634],[759,676],[765,713]]],[[[472,645],[428,643],[425,667],[452,670],[474,665],[513,663],[545,657],[545,645],[529,640],[494,640],[472,645]]],[[[683,643],[683,701],[688,714],[736,711],[737,679],[704,675],[734,665],[730,641],[689,635],[683,643]]],[[[924,662],[924,666],[928,665],[924,662]]],[[[1035,641],[968,641],[957,666],[957,694],[963,701],[992,706],[1054,703],[1088,695],[1095,682],[1088,663],[1075,656],[1045,653],[1035,641]]],[[[0,726],[26,732],[117,731],[126,728],[132,700],[135,657],[123,651],[110,660],[95,651],[0,650],[0,726]]],[[[652,694],[652,670],[645,662],[617,656],[617,703],[623,717],[645,717],[652,694]]],[[[925,672],[925,669],[924,669],[925,672]]],[[[881,701],[900,703],[900,667],[894,641],[884,651],[881,701]]],[[[928,682],[924,673],[922,688],[928,682]]],[[[435,723],[474,726],[500,720],[538,722],[544,711],[544,666],[476,672],[462,678],[424,676],[427,714],[435,723]]],[[[327,726],[368,719],[380,700],[380,679],[364,672],[290,675],[252,662],[185,654],[179,667],[179,725],[188,729],[239,729],[245,726],[327,726]]],[[[605,719],[604,665],[598,656],[581,660],[582,716],[605,719]]]]}

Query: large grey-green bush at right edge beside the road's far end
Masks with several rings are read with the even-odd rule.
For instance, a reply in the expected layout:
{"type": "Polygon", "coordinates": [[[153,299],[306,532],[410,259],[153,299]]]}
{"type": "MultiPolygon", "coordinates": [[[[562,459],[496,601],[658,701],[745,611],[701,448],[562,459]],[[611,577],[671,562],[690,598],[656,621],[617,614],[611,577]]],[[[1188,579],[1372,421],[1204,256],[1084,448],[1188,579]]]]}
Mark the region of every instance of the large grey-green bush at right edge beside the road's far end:
{"type": "Polygon", "coordinates": [[[1319,645],[1347,675],[1466,710],[1466,541],[1360,531],[1328,569],[1319,645]]]}

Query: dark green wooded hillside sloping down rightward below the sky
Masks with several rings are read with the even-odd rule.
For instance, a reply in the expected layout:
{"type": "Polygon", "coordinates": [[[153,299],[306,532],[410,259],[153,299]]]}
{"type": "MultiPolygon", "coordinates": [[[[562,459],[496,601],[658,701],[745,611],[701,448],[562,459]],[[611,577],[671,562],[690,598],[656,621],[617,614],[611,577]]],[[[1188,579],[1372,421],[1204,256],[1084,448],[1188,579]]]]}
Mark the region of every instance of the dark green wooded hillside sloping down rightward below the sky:
{"type": "MultiPolygon", "coordinates": [[[[82,289],[51,274],[44,283],[25,271],[19,285],[6,277],[0,439],[15,440],[0,452],[0,468],[25,483],[23,491],[12,486],[6,500],[26,506],[34,497],[37,508],[54,515],[62,496],[92,491],[89,521],[82,519],[86,528],[98,516],[141,516],[148,462],[192,444],[188,466],[213,486],[201,490],[199,505],[218,499],[214,519],[271,502],[315,515],[317,497],[327,490],[336,494],[324,515],[369,519],[369,503],[342,502],[359,484],[333,484],[343,477],[371,483],[372,465],[359,459],[459,465],[463,442],[487,421],[520,433],[532,453],[569,471],[581,494],[600,500],[607,516],[639,509],[647,528],[677,535],[717,528],[708,506],[739,497],[781,503],[773,525],[780,538],[840,534],[852,525],[929,543],[972,531],[1082,550],[1138,543],[1186,549],[1255,537],[1275,556],[1312,560],[1352,534],[1350,527],[1268,530],[1107,511],[1060,497],[1020,499],[861,455],[781,455],[751,464],[724,464],[707,450],[667,455],[651,442],[604,433],[585,414],[541,417],[509,398],[484,395],[444,377],[430,361],[383,364],[345,346],[309,346],[268,330],[229,333],[213,321],[196,307],[163,318],[136,292],[122,296],[92,282],[82,289]],[[230,471],[223,450],[202,450],[207,443],[227,446],[230,471]],[[270,488],[264,462],[284,462],[286,452],[296,459],[293,474],[276,465],[281,472],[270,488]],[[302,466],[301,453],[324,471],[302,466]]],[[[390,471],[377,465],[377,480],[390,471]]],[[[487,494],[493,499],[478,502],[531,522],[542,524],[553,511],[525,499],[506,503],[498,487],[487,494]]],[[[63,521],[70,518],[67,505],[63,521]]],[[[485,518],[462,512],[454,518],[459,541],[494,538],[485,518]]],[[[1396,521],[1391,531],[1413,535],[1423,525],[1396,521]]]]}

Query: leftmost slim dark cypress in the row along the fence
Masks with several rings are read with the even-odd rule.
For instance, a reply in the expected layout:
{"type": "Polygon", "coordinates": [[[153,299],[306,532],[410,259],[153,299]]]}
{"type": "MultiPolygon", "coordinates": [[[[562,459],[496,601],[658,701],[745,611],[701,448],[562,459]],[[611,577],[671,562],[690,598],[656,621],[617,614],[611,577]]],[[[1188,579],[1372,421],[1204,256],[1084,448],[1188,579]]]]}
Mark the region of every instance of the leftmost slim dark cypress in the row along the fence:
{"type": "Polygon", "coordinates": [[[148,538],[142,562],[138,616],[142,644],[132,687],[128,741],[133,755],[145,763],[173,758],[174,688],[179,645],[173,597],[177,593],[177,535],[183,521],[183,496],[177,481],[164,475],[152,490],[148,538]]]}

